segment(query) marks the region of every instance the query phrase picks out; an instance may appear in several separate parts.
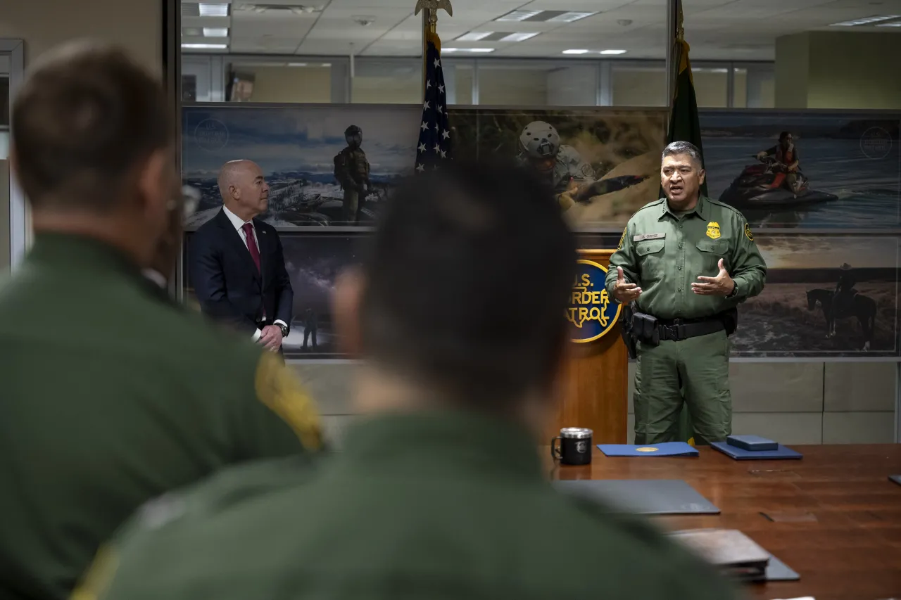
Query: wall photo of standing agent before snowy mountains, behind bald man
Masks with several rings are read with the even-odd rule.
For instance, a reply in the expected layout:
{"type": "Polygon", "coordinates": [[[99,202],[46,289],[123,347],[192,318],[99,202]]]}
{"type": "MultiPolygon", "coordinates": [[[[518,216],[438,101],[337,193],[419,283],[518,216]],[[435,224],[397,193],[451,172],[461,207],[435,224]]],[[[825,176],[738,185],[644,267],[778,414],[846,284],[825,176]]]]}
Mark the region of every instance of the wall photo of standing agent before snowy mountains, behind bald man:
{"type": "Polygon", "coordinates": [[[420,108],[372,105],[187,106],[182,179],[200,191],[188,231],[222,206],[216,177],[248,159],[269,186],[266,223],[371,225],[396,181],[413,170],[420,108]]]}

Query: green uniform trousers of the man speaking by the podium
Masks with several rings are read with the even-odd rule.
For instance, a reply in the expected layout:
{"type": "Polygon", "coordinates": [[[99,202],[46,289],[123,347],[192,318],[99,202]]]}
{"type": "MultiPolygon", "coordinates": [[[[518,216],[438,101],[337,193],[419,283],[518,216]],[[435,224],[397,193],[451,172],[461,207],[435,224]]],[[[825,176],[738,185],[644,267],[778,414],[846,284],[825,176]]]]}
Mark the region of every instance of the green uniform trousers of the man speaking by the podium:
{"type": "Polygon", "coordinates": [[[696,443],[724,441],[732,433],[725,332],[661,341],[656,347],[639,342],[633,396],[635,443],[676,441],[683,398],[696,443]]]}

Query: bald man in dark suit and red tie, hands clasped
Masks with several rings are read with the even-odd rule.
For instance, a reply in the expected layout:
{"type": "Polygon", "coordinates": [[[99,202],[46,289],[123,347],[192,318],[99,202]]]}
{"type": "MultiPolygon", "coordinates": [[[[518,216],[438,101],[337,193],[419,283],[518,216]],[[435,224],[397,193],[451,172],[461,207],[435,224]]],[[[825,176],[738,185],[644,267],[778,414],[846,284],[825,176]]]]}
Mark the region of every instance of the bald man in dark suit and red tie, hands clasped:
{"type": "Polygon", "coordinates": [[[278,232],[256,218],[268,207],[269,186],[259,165],[232,160],[219,191],[223,209],[197,230],[188,254],[197,301],[205,314],[278,351],[294,291],[278,232]]]}

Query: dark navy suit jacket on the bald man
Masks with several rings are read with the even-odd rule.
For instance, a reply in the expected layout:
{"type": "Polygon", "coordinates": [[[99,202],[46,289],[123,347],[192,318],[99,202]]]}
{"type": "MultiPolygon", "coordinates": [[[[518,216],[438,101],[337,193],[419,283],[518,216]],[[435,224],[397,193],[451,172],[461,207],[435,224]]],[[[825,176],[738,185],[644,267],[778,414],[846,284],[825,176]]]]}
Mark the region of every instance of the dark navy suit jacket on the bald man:
{"type": "Polygon", "coordinates": [[[228,216],[219,211],[191,236],[189,268],[205,314],[252,334],[264,311],[267,323],[291,326],[294,291],[275,227],[253,220],[261,273],[228,216]]]}

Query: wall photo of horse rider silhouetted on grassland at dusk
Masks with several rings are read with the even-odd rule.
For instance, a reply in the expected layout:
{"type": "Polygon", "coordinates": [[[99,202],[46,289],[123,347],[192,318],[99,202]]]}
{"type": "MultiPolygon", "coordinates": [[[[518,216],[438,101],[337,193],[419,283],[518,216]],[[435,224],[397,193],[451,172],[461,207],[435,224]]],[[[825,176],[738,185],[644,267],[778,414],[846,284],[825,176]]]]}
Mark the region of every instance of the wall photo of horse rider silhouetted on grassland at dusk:
{"type": "Polygon", "coordinates": [[[733,356],[896,357],[894,236],[761,234],[763,292],[739,306],[733,356]]]}

